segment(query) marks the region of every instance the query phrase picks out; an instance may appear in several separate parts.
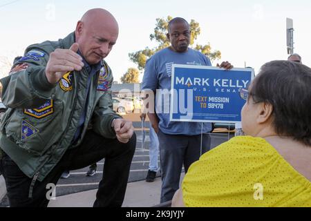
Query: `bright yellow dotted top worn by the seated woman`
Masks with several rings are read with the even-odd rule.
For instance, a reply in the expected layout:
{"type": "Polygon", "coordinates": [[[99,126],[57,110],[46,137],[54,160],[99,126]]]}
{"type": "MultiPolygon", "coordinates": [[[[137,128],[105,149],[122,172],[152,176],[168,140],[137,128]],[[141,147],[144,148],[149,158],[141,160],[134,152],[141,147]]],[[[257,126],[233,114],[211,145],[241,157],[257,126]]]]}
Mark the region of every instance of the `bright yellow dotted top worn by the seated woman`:
{"type": "Polygon", "coordinates": [[[202,155],[182,194],[186,206],[311,206],[311,182],[260,137],[234,137],[202,155]]]}

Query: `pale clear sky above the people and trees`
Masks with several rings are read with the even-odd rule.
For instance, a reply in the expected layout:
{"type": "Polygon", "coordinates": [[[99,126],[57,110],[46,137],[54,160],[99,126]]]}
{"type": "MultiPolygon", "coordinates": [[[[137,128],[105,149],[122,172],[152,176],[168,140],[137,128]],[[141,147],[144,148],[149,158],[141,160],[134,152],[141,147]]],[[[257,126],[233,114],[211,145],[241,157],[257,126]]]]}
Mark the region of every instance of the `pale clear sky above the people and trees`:
{"type": "MultiPolygon", "coordinates": [[[[212,50],[222,52],[220,61],[230,61],[236,68],[246,63],[256,73],[267,61],[287,59],[285,21],[289,17],[294,20],[294,52],[311,66],[311,1],[307,0],[1,0],[0,58],[12,62],[30,44],[66,37],[91,8],[109,10],[119,23],[117,44],[106,57],[117,81],[127,68],[136,67],[129,52],[155,46],[149,35],[156,18],[167,15],[196,20],[201,28],[199,44],[210,43],[212,50]]],[[[0,67],[2,76],[4,71],[0,67]]]]}

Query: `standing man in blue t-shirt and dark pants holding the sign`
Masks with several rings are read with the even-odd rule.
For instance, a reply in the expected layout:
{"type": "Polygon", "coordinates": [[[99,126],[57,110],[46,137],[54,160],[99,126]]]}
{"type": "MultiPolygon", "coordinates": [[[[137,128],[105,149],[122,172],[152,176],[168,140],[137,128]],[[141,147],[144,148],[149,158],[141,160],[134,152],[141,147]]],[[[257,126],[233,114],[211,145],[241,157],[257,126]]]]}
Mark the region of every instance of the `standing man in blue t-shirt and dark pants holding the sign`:
{"type": "MultiPolygon", "coordinates": [[[[189,166],[198,160],[202,153],[208,151],[211,144],[211,137],[207,134],[211,131],[210,123],[169,120],[172,65],[211,66],[211,61],[201,52],[188,48],[191,32],[185,19],[177,17],[169,21],[168,31],[167,38],[171,46],[160,50],[147,60],[142,80],[143,91],[147,94],[148,91],[149,94],[151,91],[156,92],[156,110],[153,111],[150,105],[147,108],[149,108],[148,117],[160,143],[162,175],[160,202],[171,200],[178,190],[182,164],[187,173],[189,166]]],[[[230,69],[233,66],[226,61],[220,67],[230,69]]]]}

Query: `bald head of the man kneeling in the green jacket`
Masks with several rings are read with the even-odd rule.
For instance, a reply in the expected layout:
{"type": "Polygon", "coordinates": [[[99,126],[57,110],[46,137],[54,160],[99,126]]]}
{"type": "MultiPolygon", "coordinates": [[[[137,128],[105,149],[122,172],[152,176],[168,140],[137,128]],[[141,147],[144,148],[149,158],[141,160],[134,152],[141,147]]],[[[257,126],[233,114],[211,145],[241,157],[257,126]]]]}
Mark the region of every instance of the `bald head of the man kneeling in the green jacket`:
{"type": "Polygon", "coordinates": [[[75,30],[79,51],[88,64],[97,64],[111,51],[119,35],[115,17],[102,8],[88,10],[75,30]]]}

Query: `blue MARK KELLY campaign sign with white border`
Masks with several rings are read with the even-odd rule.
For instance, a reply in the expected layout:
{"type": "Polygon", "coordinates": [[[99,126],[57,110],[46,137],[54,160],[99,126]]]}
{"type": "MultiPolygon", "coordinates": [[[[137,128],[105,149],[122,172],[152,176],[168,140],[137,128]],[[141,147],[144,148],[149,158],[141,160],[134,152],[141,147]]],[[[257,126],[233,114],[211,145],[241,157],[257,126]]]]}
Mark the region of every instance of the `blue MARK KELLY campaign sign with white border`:
{"type": "Polygon", "coordinates": [[[254,77],[252,68],[223,68],[173,64],[171,121],[241,122],[245,100],[239,89],[254,77]]]}

